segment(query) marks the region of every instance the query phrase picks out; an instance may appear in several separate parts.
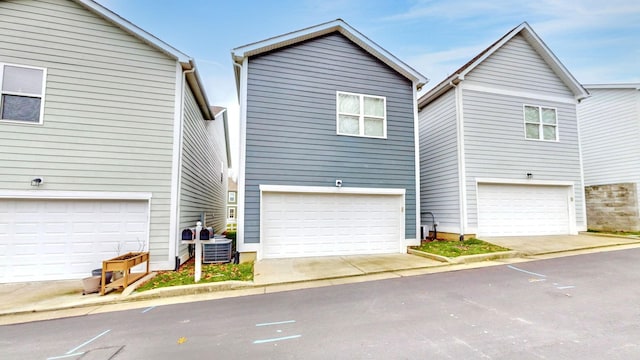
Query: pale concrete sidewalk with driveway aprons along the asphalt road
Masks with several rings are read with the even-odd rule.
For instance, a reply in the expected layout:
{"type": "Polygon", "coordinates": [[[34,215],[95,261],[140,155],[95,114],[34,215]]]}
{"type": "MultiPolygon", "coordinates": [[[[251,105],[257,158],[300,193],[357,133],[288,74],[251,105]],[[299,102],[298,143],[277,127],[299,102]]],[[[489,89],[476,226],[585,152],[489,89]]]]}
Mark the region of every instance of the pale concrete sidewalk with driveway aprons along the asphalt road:
{"type": "Polygon", "coordinates": [[[141,293],[135,292],[135,287],[129,287],[123,292],[112,292],[105,296],[82,295],[81,280],[0,284],[0,325],[455,271],[640,246],[640,238],[586,234],[485,240],[514,251],[503,253],[497,259],[470,256],[435,260],[411,254],[268,259],[256,262],[254,280],[249,282],[229,281],[174,286],[141,293]]]}

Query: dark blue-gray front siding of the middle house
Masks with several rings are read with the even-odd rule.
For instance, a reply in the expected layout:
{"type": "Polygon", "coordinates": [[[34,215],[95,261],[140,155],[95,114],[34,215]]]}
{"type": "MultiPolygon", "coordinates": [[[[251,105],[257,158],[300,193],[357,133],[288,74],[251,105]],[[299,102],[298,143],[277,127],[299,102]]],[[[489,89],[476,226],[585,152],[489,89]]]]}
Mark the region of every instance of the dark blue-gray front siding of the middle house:
{"type": "Polygon", "coordinates": [[[248,66],[244,241],[259,241],[260,184],[336,179],[406,189],[405,236],[415,238],[411,82],[338,33],[252,57],[248,66]],[[336,135],[337,91],[385,96],[387,139],[336,135]]]}

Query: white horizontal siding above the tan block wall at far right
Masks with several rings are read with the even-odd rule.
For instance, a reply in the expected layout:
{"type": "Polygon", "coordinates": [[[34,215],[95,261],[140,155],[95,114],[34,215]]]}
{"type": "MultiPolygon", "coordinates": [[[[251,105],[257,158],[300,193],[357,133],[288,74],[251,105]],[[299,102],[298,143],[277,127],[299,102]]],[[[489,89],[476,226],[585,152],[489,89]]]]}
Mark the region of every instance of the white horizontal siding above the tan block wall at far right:
{"type": "Polygon", "coordinates": [[[640,182],[640,91],[589,92],[578,105],[585,185],[640,182]]]}

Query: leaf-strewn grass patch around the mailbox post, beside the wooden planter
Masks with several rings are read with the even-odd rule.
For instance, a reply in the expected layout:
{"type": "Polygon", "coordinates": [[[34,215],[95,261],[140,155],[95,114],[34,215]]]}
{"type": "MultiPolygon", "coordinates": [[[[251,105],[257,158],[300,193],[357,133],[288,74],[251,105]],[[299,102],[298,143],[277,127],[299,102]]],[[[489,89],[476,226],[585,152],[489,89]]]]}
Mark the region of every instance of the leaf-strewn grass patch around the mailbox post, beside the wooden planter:
{"type": "MultiPolygon", "coordinates": [[[[190,285],[194,282],[195,262],[193,259],[180,266],[178,271],[160,271],[153,279],[140,286],[137,291],[158,289],[167,286],[190,285]]],[[[202,277],[198,284],[253,279],[253,263],[244,264],[202,264],[202,277]]]]}

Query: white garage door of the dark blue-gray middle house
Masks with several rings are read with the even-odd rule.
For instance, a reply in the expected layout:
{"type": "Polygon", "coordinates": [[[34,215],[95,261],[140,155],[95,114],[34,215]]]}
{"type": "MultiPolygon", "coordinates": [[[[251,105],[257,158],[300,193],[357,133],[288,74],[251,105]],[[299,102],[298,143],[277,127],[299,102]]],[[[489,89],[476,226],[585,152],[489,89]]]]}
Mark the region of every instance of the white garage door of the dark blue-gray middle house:
{"type": "Polygon", "coordinates": [[[262,195],[262,257],[384,254],[402,251],[399,195],[262,195]]]}

